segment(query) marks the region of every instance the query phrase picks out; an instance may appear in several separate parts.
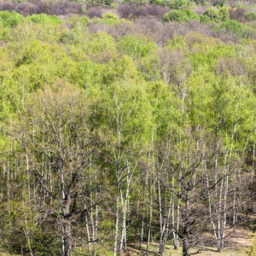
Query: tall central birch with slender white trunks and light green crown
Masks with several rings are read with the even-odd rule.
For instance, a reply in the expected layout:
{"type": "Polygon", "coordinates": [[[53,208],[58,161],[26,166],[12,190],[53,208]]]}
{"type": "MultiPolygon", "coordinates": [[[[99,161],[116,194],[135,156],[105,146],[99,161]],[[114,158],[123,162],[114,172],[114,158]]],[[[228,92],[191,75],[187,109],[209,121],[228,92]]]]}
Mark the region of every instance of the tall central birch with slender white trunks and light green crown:
{"type": "Polygon", "coordinates": [[[151,125],[151,109],[143,84],[139,86],[131,79],[111,84],[108,90],[104,90],[104,96],[106,98],[105,117],[109,129],[107,131],[110,147],[108,157],[112,159],[112,163],[108,163],[108,168],[110,169],[114,163],[112,172],[116,179],[113,242],[113,255],[116,255],[126,247],[126,218],[130,191],[135,184],[133,179],[146,147],[145,137],[148,136],[151,125]],[[122,227],[119,238],[120,223],[122,227]]]}

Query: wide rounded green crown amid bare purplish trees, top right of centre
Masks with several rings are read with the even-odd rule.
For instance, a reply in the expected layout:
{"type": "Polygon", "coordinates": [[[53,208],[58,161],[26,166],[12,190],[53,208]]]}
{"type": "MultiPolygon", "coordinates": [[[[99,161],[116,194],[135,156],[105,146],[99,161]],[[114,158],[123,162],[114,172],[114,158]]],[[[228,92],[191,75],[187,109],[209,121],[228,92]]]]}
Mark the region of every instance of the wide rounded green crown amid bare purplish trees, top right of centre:
{"type": "Polygon", "coordinates": [[[164,21],[178,21],[187,22],[189,20],[198,20],[199,16],[189,9],[173,10],[169,14],[166,14],[164,21]]]}

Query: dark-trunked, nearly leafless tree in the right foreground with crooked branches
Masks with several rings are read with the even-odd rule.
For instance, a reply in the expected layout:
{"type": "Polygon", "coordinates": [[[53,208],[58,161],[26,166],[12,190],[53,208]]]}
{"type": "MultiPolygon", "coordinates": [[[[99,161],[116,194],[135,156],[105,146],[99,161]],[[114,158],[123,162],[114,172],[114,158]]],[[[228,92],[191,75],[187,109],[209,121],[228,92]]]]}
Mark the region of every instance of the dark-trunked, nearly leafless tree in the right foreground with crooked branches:
{"type": "Polygon", "coordinates": [[[201,241],[202,224],[208,222],[204,199],[224,177],[219,177],[211,186],[207,186],[204,166],[209,168],[213,165],[216,148],[207,138],[206,131],[199,125],[194,129],[187,125],[181,135],[180,139],[175,132],[171,132],[162,145],[160,161],[161,165],[166,166],[166,170],[159,173],[158,177],[161,186],[170,191],[171,198],[169,203],[162,205],[161,211],[179,211],[178,229],[177,220],[172,219],[173,214],[164,214],[166,223],[169,224],[166,233],[175,232],[183,243],[183,256],[189,256],[189,249],[201,241]],[[176,204],[179,207],[175,207],[176,204]]]}

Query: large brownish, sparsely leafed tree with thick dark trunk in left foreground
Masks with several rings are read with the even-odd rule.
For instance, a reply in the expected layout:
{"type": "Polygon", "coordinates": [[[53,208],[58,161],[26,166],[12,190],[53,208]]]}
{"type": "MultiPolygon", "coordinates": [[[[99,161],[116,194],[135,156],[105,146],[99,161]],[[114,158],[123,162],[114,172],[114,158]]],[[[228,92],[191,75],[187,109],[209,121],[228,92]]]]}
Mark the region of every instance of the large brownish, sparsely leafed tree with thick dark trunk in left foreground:
{"type": "MultiPolygon", "coordinates": [[[[38,181],[38,208],[61,225],[63,254],[72,255],[72,222],[88,208],[82,195],[95,153],[89,118],[90,103],[79,90],[56,84],[39,90],[12,122],[11,137],[28,159],[38,181]]],[[[26,166],[24,166],[26,168],[26,166]]],[[[28,182],[32,182],[31,180],[28,182]]],[[[93,203],[92,203],[93,204],[93,203]]]]}

